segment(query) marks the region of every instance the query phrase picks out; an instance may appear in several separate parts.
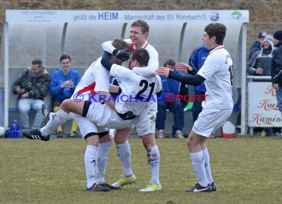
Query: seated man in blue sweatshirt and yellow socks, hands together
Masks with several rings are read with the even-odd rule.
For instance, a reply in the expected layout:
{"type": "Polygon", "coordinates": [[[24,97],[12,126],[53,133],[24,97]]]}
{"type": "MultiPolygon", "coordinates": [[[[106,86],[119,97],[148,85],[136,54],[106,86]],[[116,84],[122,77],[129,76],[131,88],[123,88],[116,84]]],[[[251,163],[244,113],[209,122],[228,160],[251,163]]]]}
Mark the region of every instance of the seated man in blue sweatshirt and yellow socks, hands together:
{"type": "MultiPolygon", "coordinates": [[[[79,72],[70,68],[71,58],[63,54],[60,57],[61,69],[55,71],[51,76],[50,93],[52,95],[52,106],[55,112],[59,110],[60,104],[71,98],[76,85],[80,81],[79,72]]],[[[71,132],[68,137],[80,137],[77,133],[78,125],[73,119],[71,132]]],[[[63,138],[64,132],[62,126],[57,127],[57,138],[63,138]]]]}

